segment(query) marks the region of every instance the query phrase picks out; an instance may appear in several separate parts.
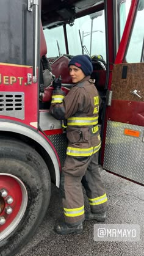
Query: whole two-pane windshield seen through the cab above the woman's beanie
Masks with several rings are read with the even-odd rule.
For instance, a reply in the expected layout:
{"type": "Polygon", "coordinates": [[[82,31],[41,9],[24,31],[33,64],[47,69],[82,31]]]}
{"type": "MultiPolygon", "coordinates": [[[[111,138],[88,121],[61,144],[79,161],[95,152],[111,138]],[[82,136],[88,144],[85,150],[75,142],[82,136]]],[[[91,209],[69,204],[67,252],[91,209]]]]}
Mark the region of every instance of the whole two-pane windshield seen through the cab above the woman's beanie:
{"type": "MultiPolygon", "coordinates": [[[[73,26],[67,24],[69,54],[101,55],[106,60],[106,32],[104,10],[77,18],[73,26]]],[[[63,27],[44,30],[48,57],[66,54],[63,27]],[[50,40],[49,40],[50,38],[50,40]]]]}

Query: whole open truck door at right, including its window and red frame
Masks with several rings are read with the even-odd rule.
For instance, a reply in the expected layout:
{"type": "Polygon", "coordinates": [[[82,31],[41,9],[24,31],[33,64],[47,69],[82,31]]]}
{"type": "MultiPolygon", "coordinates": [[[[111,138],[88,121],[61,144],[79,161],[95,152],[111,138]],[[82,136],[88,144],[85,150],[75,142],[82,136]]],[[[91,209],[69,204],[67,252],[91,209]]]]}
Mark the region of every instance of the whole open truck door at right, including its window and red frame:
{"type": "Polygon", "coordinates": [[[144,6],[131,2],[112,71],[103,167],[144,185],[144,6]]]}

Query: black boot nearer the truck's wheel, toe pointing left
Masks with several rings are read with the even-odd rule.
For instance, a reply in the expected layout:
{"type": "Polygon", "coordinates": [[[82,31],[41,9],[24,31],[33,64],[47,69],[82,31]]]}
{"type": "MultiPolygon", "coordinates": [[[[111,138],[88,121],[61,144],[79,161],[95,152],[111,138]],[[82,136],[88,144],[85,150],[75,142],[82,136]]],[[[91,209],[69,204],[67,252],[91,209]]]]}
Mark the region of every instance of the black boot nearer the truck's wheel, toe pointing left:
{"type": "Polygon", "coordinates": [[[58,222],[54,230],[60,235],[68,235],[71,233],[80,234],[83,231],[82,223],[76,226],[68,226],[65,222],[58,222]]]}

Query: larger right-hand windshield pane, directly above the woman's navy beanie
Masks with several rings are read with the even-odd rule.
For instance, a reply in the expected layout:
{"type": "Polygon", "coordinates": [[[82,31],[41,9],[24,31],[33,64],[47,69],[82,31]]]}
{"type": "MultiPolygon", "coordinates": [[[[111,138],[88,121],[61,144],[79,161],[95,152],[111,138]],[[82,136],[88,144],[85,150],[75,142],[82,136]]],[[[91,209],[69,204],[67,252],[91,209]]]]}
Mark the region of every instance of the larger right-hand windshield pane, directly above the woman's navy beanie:
{"type": "Polygon", "coordinates": [[[106,60],[104,10],[77,18],[72,27],[67,25],[67,37],[71,55],[84,53],[93,56],[101,54],[106,60]]]}

